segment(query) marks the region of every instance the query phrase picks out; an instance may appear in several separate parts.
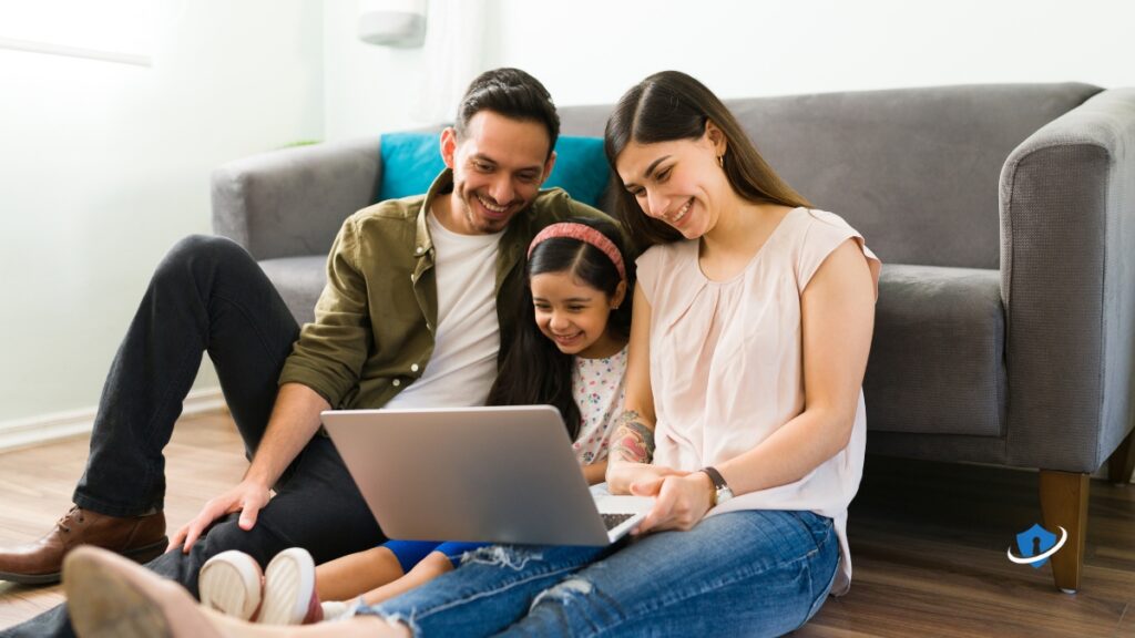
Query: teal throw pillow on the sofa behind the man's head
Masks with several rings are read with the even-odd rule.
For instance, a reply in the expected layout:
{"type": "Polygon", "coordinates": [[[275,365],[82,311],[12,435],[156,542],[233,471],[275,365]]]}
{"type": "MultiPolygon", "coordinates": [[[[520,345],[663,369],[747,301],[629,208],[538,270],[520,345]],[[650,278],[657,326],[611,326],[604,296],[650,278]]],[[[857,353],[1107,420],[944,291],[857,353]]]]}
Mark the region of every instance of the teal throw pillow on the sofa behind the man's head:
{"type": "MultiPolygon", "coordinates": [[[[387,133],[382,135],[381,156],[378,201],[420,195],[445,168],[440,133],[387,133]]],[[[609,175],[603,140],[561,136],[556,142],[556,166],[544,187],[558,186],[573,200],[598,207],[609,175]]]]}

